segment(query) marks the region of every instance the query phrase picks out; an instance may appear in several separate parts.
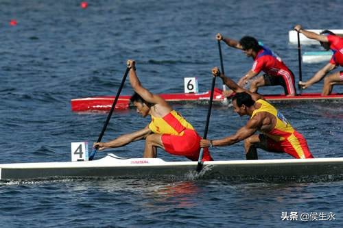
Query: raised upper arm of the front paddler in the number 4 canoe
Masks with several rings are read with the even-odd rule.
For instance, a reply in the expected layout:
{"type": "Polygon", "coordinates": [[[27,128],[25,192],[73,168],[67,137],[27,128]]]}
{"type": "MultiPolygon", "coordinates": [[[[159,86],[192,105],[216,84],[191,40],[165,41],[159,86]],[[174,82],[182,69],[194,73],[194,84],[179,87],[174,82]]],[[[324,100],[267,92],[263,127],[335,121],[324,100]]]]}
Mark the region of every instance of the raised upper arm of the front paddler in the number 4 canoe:
{"type": "Polygon", "coordinates": [[[148,103],[167,105],[164,99],[162,99],[156,94],[151,93],[149,90],[147,90],[146,88],[142,86],[141,81],[139,81],[136,74],[134,60],[128,60],[128,68],[130,68],[129,78],[130,78],[130,84],[134,92],[137,92],[148,103]]]}

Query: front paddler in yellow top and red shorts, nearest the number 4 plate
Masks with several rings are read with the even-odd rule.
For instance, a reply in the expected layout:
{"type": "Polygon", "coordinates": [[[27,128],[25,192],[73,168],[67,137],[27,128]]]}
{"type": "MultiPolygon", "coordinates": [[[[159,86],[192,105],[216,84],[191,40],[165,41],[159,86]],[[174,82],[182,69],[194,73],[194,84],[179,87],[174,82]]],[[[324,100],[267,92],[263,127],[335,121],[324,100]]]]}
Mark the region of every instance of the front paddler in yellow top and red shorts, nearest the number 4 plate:
{"type": "MultiPolygon", "coordinates": [[[[104,150],[122,147],[130,142],[145,139],[143,157],[157,157],[156,149],[160,147],[168,153],[198,161],[201,137],[196,130],[185,118],[173,110],[167,101],[141,86],[133,60],[128,60],[128,67],[130,68],[130,84],[135,92],[130,101],[137,107],[139,114],[143,117],[150,115],[152,121],[139,131],[119,136],[110,142],[97,142],[94,147],[104,150]]],[[[211,160],[213,159],[209,150],[204,150],[202,161],[211,160]]]]}

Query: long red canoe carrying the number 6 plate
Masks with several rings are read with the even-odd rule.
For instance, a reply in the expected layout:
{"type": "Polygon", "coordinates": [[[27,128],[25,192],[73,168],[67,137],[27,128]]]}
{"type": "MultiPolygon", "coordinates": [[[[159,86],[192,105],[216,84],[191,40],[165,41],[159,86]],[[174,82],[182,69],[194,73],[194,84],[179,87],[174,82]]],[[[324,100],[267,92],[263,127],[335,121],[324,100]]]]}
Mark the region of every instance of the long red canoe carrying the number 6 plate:
{"type": "MultiPolygon", "coordinates": [[[[210,98],[210,91],[202,93],[174,93],[174,94],[159,94],[163,99],[172,103],[207,103],[210,98]]],[[[285,95],[264,95],[265,99],[272,102],[292,102],[292,101],[340,101],[343,102],[343,94],[331,94],[329,96],[321,96],[319,93],[299,94],[293,97],[285,95]]],[[[71,100],[71,110],[73,112],[88,112],[88,111],[109,111],[112,107],[114,96],[102,97],[86,97],[71,100]]],[[[222,90],[215,88],[213,102],[223,103],[224,96],[222,90]]],[[[130,106],[130,95],[120,96],[117,105],[118,110],[126,110],[130,106]]]]}

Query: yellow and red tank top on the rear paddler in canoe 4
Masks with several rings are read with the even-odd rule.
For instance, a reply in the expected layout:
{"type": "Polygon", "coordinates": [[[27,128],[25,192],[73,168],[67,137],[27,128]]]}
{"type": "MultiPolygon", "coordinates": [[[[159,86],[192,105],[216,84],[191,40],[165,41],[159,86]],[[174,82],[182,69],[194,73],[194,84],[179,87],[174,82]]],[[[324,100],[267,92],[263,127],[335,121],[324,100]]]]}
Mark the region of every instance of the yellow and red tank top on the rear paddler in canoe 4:
{"type": "Polygon", "coordinates": [[[268,135],[275,141],[283,141],[294,133],[294,128],[287,121],[285,116],[281,114],[276,108],[265,100],[259,99],[256,103],[260,103],[261,107],[252,112],[251,118],[254,117],[259,112],[268,112],[276,117],[276,125],[274,129],[268,132],[263,132],[263,134],[268,135]]]}

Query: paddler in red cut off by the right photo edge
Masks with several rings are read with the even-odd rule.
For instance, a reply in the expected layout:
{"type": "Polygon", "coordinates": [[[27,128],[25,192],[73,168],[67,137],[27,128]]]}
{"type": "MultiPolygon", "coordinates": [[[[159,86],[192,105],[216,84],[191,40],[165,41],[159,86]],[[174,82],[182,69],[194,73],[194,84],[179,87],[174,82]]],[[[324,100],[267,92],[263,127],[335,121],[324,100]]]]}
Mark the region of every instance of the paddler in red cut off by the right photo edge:
{"type": "MultiPolygon", "coordinates": [[[[299,82],[300,86],[303,89],[309,88],[309,86],[316,84],[320,81],[325,75],[329,72],[333,71],[338,66],[343,66],[343,38],[340,36],[335,36],[332,31],[324,30],[320,34],[316,34],[312,31],[307,31],[301,27],[301,25],[296,25],[294,29],[302,34],[304,34],[307,38],[318,40],[320,45],[324,47],[324,49],[331,49],[333,51],[332,58],[330,62],[325,65],[323,68],[318,71],[314,77],[311,77],[306,82],[299,82]]],[[[324,86],[322,88],[322,95],[329,95],[332,92],[334,85],[342,85],[343,84],[343,71],[338,71],[332,73],[331,75],[324,78],[324,86]]]]}

